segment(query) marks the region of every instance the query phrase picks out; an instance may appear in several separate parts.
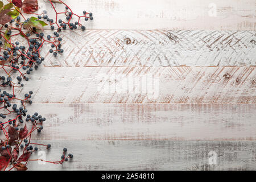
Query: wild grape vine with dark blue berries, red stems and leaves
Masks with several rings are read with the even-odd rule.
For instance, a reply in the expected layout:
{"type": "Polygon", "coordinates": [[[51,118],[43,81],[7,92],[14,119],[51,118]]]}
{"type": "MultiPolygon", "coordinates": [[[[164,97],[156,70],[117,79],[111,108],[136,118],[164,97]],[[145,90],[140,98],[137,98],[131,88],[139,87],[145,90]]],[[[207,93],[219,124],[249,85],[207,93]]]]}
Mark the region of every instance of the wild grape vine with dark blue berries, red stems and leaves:
{"type": "MultiPolygon", "coordinates": [[[[30,156],[38,151],[38,146],[51,148],[51,144],[32,143],[32,133],[41,133],[46,118],[39,113],[27,114],[27,104],[32,104],[33,92],[24,94],[24,98],[18,98],[15,94],[17,88],[22,88],[29,81],[30,75],[39,69],[44,57],[40,50],[45,43],[51,44],[50,53],[54,56],[64,52],[61,49],[61,30],[74,30],[85,26],[81,20],[92,20],[92,13],[86,11],[81,15],[73,11],[63,1],[48,0],[55,12],[53,19],[48,17],[47,11],[38,14],[37,0],[7,0],[0,1],[0,170],[26,170],[30,156]],[[57,11],[54,3],[64,5],[62,12],[57,11]],[[64,19],[59,16],[64,15],[64,19]],[[28,16],[28,17],[27,17],[28,16]],[[72,22],[73,19],[77,19],[72,22]],[[44,35],[43,27],[49,26],[52,35],[44,35]],[[15,41],[19,36],[22,41],[15,41]]],[[[63,148],[60,160],[44,162],[62,164],[73,158],[67,154],[67,148],[63,148]]]]}

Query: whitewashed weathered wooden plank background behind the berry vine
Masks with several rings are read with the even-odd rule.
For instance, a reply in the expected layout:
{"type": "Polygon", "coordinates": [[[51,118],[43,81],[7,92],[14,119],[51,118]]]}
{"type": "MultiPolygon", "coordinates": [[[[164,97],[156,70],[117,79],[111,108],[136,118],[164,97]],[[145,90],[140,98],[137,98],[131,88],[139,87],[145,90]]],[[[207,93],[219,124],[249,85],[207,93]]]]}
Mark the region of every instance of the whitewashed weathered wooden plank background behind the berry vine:
{"type": "Polygon", "coordinates": [[[47,118],[34,135],[52,144],[47,160],[60,159],[63,147],[74,158],[28,168],[256,169],[255,0],[64,2],[92,11],[94,20],[85,32],[61,32],[62,56],[44,48],[43,67],[20,93],[34,90],[28,109],[47,118]],[[147,74],[159,79],[153,100],[99,89],[112,75],[118,87],[124,77],[147,74]],[[216,165],[208,164],[209,151],[217,152],[216,165]]]}

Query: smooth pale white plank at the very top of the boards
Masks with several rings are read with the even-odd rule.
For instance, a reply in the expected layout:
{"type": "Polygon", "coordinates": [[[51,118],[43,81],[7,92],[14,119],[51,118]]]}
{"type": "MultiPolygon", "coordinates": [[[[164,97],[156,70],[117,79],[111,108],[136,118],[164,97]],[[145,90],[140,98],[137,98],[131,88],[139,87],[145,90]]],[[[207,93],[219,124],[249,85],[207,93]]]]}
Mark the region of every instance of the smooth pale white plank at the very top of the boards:
{"type": "MultiPolygon", "coordinates": [[[[40,11],[55,17],[46,1],[40,11]]],[[[77,14],[92,11],[85,23],[96,30],[255,30],[254,0],[66,0],[77,14]]],[[[65,7],[57,5],[58,12],[65,7]]],[[[59,18],[63,18],[60,15],[59,18]]],[[[75,22],[75,19],[74,19],[75,22]]],[[[85,21],[84,21],[85,22],[85,21]]]]}

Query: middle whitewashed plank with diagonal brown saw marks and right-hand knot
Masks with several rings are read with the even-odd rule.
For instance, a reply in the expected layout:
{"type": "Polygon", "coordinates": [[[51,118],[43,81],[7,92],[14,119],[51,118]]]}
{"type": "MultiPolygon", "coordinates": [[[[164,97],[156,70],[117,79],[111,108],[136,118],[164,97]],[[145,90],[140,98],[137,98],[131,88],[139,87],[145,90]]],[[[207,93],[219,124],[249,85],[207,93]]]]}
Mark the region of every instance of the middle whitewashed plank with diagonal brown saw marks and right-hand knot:
{"type": "Polygon", "coordinates": [[[255,67],[43,67],[22,91],[40,103],[255,104],[255,67]]]}

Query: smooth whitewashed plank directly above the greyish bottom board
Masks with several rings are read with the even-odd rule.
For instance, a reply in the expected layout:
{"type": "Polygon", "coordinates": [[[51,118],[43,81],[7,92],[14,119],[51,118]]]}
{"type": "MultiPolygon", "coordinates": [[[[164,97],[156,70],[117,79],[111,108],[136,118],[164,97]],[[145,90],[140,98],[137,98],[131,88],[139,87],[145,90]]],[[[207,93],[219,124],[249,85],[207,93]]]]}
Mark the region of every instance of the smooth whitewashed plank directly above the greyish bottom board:
{"type": "Polygon", "coordinates": [[[27,109],[47,118],[43,132],[33,135],[39,140],[256,140],[251,104],[32,104],[27,109]]]}

